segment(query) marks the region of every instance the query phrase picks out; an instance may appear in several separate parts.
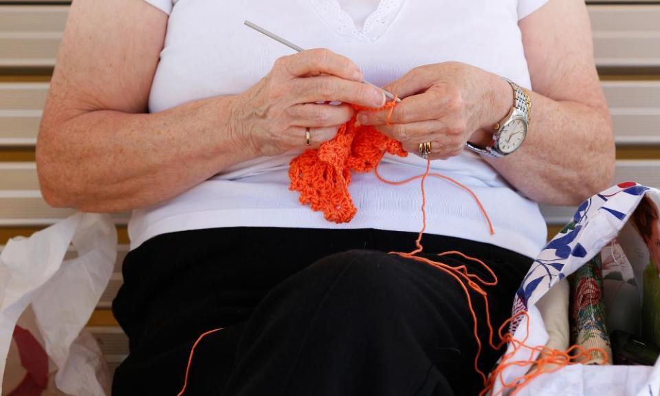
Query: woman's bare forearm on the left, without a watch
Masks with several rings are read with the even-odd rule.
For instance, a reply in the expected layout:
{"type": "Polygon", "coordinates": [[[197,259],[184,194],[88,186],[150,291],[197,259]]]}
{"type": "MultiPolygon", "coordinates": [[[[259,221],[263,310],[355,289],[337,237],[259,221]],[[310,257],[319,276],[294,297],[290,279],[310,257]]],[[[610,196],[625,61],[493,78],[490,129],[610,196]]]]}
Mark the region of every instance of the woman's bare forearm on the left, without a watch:
{"type": "Polygon", "coordinates": [[[254,157],[232,130],[234,97],[153,114],[89,111],[44,122],[36,150],[44,198],[58,207],[118,212],[179,195],[254,157]]]}

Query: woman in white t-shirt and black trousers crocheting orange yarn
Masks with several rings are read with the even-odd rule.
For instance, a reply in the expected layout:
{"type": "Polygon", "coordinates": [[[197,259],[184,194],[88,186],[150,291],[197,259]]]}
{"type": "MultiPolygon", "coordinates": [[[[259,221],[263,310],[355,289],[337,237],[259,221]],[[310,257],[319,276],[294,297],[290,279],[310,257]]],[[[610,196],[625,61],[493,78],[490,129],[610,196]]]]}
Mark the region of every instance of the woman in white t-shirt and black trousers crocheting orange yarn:
{"type": "Polygon", "coordinates": [[[37,164],[132,210],[115,395],[474,395],[614,143],[581,0],[76,0],[37,164]]]}

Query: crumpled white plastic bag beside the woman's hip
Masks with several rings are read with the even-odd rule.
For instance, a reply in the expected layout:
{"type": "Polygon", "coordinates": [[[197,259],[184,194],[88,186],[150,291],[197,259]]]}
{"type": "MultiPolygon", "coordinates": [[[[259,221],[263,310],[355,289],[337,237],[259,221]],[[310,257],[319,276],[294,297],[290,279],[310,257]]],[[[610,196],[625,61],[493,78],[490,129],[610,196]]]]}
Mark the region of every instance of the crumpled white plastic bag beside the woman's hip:
{"type": "Polygon", "coordinates": [[[8,242],[0,254],[0,384],[14,327],[31,305],[45,352],[57,367],[58,390],[107,394],[107,373],[99,375],[98,365],[90,364],[98,360],[98,346],[81,330],[107,286],[116,254],[115,227],[102,214],[74,214],[8,242]],[[78,257],[64,261],[70,244],[78,257]]]}

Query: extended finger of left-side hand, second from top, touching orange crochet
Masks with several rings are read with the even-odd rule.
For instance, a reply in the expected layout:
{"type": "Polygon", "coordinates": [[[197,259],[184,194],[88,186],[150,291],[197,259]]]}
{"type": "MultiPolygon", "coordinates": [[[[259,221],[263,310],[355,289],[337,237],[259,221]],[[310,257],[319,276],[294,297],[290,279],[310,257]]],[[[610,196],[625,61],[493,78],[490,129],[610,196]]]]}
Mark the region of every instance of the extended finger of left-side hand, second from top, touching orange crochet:
{"type": "Polygon", "coordinates": [[[370,108],[382,107],[385,104],[382,89],[335,76],[296,78],[292,85],[296,103],[338,101],[370,108]]]}

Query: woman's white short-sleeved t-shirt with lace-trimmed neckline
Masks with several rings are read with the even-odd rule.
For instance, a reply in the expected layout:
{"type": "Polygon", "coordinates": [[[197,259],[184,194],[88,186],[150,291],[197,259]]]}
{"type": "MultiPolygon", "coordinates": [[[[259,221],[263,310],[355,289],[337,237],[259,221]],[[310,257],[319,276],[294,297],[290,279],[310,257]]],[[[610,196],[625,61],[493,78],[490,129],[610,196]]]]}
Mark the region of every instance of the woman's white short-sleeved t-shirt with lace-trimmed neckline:
{"type": "MultiPolygon", "coordinates": [[[[375,9],[357,28],[340,0],[146,0],[170,15],[164,49],[151,87],[149,109],[163,111],[190,100],[240,94],[292,50],[243,25],[248,19],[304,48],[325,47],[351,58],[364,78],[384,85],[413,67],[460,61],[530,87],[518,20],[547,0],[364,0],[375,9]]],[[[360,0],[353,0],[359,2],[360,0]]],[[[133,211],[131,248],[166,232],[233,226],[421,228],[418,182],[391,186],[373,173],[356,174],[349,191],[358,214],[329,223],[289,190],[288,164],[300,152],[237,164],[183,194],[133,211]]],[[[417,155],[385,155],[384,177],[420,175],[417,155]]],[[[440,179],[426,183],[427,229],[536,256],[546,225],[533,201],[519,195],[479,155],[465,151],[432,162],[432,171],[469,186],[491,217],[495,234],[472,197],[440,179]]],[[[412,241],[411,241],[412,248],[412,241]]]]}

